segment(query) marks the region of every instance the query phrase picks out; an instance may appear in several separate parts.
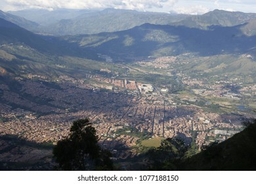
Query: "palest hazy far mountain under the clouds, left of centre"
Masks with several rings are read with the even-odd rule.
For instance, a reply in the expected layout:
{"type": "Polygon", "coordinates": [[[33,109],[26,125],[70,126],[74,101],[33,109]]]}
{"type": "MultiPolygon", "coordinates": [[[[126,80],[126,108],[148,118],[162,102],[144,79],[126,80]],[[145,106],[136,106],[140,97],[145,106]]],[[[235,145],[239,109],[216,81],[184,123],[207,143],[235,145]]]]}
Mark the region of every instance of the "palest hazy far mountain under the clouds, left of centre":
{"type": "Polygon", "coordinates": [[[98,34],[128,30],[145,23],[171,24],[186,17],[188,16],[182,14],[105,9],[99,12],[86,12],[76,18],[63,19],[39,28],[53,35],[98,34]]]}

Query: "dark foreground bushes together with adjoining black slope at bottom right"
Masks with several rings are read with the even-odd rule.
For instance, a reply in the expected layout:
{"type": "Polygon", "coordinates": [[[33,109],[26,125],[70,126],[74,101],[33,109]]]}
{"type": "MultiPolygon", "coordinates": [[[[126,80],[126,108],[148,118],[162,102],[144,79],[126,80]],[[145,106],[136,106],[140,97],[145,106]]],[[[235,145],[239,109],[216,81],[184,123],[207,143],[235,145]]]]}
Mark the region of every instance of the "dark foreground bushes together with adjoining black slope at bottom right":
{"type": "MultiPolygon", "coordinates": [[[[147,151],[149,170],[255,170],[256,124],[222,143],[212,143],[197,154],[182,139],[162,141],[161,146],[147,151]]],[[[145,158],[144,158],[145,159],[145,158]]]]}

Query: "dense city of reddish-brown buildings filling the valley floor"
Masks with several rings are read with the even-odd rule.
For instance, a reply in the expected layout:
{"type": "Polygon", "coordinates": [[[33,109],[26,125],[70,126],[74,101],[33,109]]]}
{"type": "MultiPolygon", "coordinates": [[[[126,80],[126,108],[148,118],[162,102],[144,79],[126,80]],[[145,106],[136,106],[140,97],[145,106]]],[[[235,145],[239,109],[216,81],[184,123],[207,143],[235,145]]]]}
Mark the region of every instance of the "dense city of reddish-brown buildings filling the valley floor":
{"type": "MultiPolygon", "coordinates": [[[[166,62],[174,60],[157,58],[151,64],[165,68],[166,62]]],[[[101,68],[101,72],[106,71],[111,72],[101,68]]],[[[212,105],[211,101],[203,106],[198,102],[200,97],[239,101],[243,94],[255,95],[255,85],[241,87],[238,94],[224,87],[227,83],[238,85],[238,79],[236,84],[232,80],[209,84],[186,74],[177,75],[183,85],[192,87],[190,93],[172,94],[165,86],[99,74],[86,74],[84,80],[59,76],[52,81],[33,74],[15,78],[20,86],[17,92],[6,84],[0,85],[1,136],[17,135],[26,141],[56,145],[68,135],[74,120],[89,118],[102,147],[111,150],[113,159],[124,159],[140,154],[138,147],[145,146],[145,141],[149,141],[146,147],[154,147],[150,140],[167,137],[181,137],[200,150],[203,145],[224,141],[240,132],[241,122],[252,117],[242,111],[211,112],[204,108],[212,105]]]]}

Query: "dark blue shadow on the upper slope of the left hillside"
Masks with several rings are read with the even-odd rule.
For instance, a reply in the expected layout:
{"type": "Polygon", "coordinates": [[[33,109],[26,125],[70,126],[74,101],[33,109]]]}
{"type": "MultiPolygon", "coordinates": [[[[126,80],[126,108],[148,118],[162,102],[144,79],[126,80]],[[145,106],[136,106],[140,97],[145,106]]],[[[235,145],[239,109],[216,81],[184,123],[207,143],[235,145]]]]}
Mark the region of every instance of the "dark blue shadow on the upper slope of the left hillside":
{"type": "Polygon", "coordinates": [[[20,48],[28,46],[41,53],[55,56],[96,57],[94,53],[85,52],[76,44],[49,35],[34,34],[3,18],[0,18],[0,28],[0,44],[3,45],[9,44],[20,48]]]}

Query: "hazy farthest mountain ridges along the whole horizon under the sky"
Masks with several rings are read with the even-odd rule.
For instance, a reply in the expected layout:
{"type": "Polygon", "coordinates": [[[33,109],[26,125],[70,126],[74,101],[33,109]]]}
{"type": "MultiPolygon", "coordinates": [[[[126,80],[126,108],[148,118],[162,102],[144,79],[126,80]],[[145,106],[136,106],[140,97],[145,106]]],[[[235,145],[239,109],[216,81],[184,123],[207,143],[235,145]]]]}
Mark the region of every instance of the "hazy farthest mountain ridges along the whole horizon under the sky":
{"type": "MultiPolygon", "coordinates": [[[[52,35],[118,32],[134,28],[135,26],[141,26],[146,23],[186,26],[188,28],[209,30],[209,26],[238,26],[256,18],[255,13],[220,10],[207,12],[202,15],[138,12],[120,9],[105,9],[103,11],[76,11],[68,9],[47,11],[32,9],[24,11],[10,11],[9,13],[32,20],[40,25],[23,24],[23,28],[42,34],[52,35]]],[[[20,25],[21,22],[16,22],[16,24],[20,25]]],[[[247,33],[246,30],[245,33],[247,33]]],[[[251,32],[249,31],[248,34],[251,34],[251,32]]]]}

